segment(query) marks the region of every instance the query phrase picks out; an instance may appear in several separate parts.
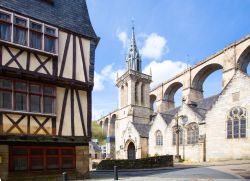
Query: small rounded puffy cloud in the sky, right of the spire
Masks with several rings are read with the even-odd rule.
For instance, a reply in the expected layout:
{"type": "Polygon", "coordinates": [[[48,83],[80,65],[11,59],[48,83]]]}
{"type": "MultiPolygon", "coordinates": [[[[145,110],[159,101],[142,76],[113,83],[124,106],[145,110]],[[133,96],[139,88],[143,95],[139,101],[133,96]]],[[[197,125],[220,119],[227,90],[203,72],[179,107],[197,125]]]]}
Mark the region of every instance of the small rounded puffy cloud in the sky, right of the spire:
{"type": "Polygon", "coordinates": [[[164,37],[156,33],[151,33],[147,36],[147,39],[145,40],[140,52],[145,58],[158,60],[166,51],[168,51],[166,45],[167,40],[164,37]]]}

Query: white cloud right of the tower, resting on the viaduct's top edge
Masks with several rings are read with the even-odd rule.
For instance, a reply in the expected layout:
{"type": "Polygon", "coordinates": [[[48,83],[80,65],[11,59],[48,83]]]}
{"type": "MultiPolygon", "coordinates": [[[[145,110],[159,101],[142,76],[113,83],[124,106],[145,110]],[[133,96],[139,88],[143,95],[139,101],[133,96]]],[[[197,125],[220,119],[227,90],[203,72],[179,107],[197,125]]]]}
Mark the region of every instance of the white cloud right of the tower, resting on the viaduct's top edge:
{"type": "Polygon", "coordinates": [[[143,70],[144,73],[150,74],[150,68],[152,71],[151,88],[154,88],[158,84],[168,80],[174,75],[182,72],[189,65],[181,61],[164,60],[162,62],[152,61],[143,70]]]}

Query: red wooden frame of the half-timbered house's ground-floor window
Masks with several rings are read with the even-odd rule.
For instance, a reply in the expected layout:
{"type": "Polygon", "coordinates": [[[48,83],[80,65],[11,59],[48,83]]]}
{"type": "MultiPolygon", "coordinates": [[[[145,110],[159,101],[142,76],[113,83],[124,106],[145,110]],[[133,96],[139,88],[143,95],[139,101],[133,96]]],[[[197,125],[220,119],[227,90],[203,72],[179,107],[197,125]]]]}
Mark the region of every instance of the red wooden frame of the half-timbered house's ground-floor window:
{"type": "Polygon", "coordinates": [[[10,146],[9,147],[9,171],[10,172],[36,172],[36,171],[52,171],[52,170],[72,170],[76,168],[76,150],[75,147],[49,147],[49,146],[10,146]],[[27,149],[27,155],[13,155],[13,150],[18,148],[27,149]],[[31,155],[32,149],[40,149],[43,154],[41,155],[31,155]],[[48,150],[57,150],[57,155],[49,155],[47,154],[48,150]],[[72,150],[72,154],[63,155],[62,150],[72,150]],[[16,171],[14,170],[14,160],[15,158],[26,158],[27,159],[27,169],[16,171]],[[43,159],[43,168],[42,169],[32,169],[31,159],[32,158],[42,158],[43,159]],[[58,168],[48,168],[48,158],[57,158],[58,159],[58,168]],[[72,158],[72,167],[71,168],[63,168],[62,160],[63,158],[72,158]]]}

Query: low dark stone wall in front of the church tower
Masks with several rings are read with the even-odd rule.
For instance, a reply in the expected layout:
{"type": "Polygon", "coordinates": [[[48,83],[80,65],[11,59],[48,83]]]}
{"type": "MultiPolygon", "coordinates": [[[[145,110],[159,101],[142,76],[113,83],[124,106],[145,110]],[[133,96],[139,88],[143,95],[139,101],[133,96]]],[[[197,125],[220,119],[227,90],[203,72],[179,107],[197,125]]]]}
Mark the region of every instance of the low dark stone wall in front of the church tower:
{"type": "Polygon", "coordinates": [[[136,160],[102,160],[96,169],[113,170],[114,166],[118,166],[118,169],[172,167],[173,155],[156,156],[136,160]]]}

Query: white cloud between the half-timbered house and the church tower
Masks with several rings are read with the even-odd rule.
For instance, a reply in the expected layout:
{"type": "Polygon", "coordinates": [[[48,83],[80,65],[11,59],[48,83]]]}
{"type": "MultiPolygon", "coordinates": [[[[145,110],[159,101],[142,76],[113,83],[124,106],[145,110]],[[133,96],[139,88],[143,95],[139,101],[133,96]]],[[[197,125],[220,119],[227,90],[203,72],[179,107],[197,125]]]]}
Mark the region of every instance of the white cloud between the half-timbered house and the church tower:
{"type": "Polygon", "coordinates": [[[102,91],[106,83],[114,84],[117,79],[117,73],[121,76],[125,69],[114,69],[114,64],[106,65],[100,73],[95,72],[94,91],[102,91]]]}

